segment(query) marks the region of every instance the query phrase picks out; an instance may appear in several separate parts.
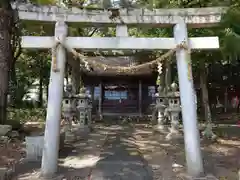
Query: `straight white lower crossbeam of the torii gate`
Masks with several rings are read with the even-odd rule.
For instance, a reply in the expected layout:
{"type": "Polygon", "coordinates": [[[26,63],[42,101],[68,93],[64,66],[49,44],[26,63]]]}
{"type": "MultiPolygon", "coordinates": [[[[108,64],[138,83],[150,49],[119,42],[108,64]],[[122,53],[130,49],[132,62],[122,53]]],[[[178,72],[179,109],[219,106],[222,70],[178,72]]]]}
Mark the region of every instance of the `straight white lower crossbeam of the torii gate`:
{"type": "MultiPolygon", "coordinates": [[[[133,38],[133,37],[67,37],[69,47],[83,50],[159,50],[176,47],[174,38],[133,38]]],[[[218,37],[189,38],[191,49],[218,49],[218,37]]],[[[23,48],[52,48],[54,38],[47,36],[23,36],[23,48]]]]}

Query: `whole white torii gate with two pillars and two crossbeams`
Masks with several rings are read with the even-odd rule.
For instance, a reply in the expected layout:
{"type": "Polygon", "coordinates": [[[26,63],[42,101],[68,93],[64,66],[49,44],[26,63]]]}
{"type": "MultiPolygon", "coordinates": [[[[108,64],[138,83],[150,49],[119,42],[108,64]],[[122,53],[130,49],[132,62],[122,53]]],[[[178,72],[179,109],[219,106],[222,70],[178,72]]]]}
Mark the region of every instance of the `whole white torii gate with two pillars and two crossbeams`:
{"type": "MultiPolygon", "coordinates": [[[[217,49],[218,37],[188,38],[187,24],[190,27],[206,27],[216,25],[221,20],[224,8],[190,8],[190,9],[159,9],[154,11],[120,10],[121,19],[113,21],[109,18],[111,12],[105,10],[65,10],[49,6],[26,6],[15,4],[19,18],[22,20],[56,22],[55,37],[22,37],[23,48],[49,49],[55,45],[55,40],[65,41],[71,48],[88,50],[160,50],[173,49],[176,45],[185,42],[189,49],[217,49]],[[174,38],[133,38],[133,37],[67,37],[65,22],[112,26],[125,25],[153,25],[174,26],[174,38]]],[[[60,133],[61,103],[63,96],[63,80],[66,62],[66,50],[63,46],[57,48],[58,71],[51,71],[49,96],[42,158],[42,175],[52,176],[57,172],[58,149],[60,133]]],[[[194,177],[203,172],[203,163],[197,127],[197,115],[194,102],[193,80],[189,79],[187,59],[189,52],[179,49],[176,52],[177,68],[180,86],[180,98],[184,124],[184,140],[188,173],[194,177]]],[[[55,58],[55,57],[54,57],[55,58]]],[[[53,66],[52,62],[52,66],[53,66]]],[[[191,69],[190,69],[191,71],[191,69]]],[[[190,75],[192,76],[192,75],[190,75]]]]}

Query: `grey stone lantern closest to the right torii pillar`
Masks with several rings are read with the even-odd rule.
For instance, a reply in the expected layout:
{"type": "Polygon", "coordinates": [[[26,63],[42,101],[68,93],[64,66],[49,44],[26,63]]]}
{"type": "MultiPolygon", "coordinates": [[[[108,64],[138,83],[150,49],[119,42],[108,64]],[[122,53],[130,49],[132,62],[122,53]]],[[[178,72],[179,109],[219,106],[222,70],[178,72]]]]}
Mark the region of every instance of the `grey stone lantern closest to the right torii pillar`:
{"type": "Polygon", "coordinates": [[[176,83],[171,84],[171,91],[168,93],[168,112],[170,113],[171,127],[170,133],[166,139],[178,137],[179,133],[179,113],[181,112],[180,93],[177,91],[178,86],[176,83]]]}

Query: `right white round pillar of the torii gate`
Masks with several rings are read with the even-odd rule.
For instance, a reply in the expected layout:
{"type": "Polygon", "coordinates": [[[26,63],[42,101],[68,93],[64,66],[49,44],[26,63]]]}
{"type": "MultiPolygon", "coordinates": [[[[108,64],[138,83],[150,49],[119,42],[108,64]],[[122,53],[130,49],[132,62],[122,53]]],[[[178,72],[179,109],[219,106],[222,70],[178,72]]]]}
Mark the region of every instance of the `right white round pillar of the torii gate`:
{"type": "MultiPolygon", "coordinates": [[[[176,44],[186,42],[188,44],[187,25],[181,20],[174,27],[174,38],[176,44]]],[[[189,65],[190,52],[179,49],[176,52],[177,69],[180,87],[180,99],[182,107],[185,155],[187,170],[193,177],[203,172],[203,162],[199,141],[199,130],[197,125],[196,103],[194,98],[192,68],[189,65]]]]}

